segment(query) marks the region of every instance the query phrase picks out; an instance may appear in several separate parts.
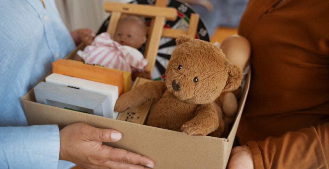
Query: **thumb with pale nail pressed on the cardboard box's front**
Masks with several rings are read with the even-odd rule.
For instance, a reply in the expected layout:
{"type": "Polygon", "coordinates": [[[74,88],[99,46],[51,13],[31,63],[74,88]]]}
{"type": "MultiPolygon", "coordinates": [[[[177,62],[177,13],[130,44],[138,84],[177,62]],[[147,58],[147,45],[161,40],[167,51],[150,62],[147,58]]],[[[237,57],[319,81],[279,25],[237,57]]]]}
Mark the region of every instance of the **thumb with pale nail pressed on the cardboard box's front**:
{"type": "Polygon", "coordinates": [[[121,133],[114,129],[96,128],[89,126],[84,131],[87,139],[90,141],[116,142],[122,137],[121,133]]]}

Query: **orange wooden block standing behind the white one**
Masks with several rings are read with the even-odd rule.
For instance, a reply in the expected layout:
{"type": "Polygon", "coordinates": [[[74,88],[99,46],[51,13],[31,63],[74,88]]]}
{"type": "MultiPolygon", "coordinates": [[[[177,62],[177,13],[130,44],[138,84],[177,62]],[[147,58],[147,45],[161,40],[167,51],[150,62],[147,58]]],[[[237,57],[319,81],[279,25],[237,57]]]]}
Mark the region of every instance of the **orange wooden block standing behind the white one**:
{"type": "Polygon", "coordinates": [[[53,73],[114,85],[119,88],[119,96],[123,93],[123,72],[121,71],[104,69],[65,59],[56,60],[52,66],[53,73]]]}

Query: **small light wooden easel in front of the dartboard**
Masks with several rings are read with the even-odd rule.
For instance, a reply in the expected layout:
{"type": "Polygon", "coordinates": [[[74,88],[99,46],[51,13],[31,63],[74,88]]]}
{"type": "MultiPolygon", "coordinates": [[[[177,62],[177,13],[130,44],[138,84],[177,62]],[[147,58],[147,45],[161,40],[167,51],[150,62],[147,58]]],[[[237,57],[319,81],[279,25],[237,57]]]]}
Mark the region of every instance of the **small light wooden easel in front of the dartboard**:
{"type": "Polygon", "coordinates": [[[115,2],[105,2],[104,10],[111,13],[107,32],[114,36],[120,18],[126,15],[137,15],[152,18],[148,28],[148,38],[145,46],[144,57],[149,61],[145,70],[150,71],[151,76],[155,65],[157,52],[161,37],[177,38],[182,34],[194,37],[199,22],[198,14],[191,14],[189,29],[179,30],[164,28],[165,20],[174,21],[177,18],[177,10],[167,6],[168,0],[157,0],[155,6],[141,4],[123,4],[115,2]]]}

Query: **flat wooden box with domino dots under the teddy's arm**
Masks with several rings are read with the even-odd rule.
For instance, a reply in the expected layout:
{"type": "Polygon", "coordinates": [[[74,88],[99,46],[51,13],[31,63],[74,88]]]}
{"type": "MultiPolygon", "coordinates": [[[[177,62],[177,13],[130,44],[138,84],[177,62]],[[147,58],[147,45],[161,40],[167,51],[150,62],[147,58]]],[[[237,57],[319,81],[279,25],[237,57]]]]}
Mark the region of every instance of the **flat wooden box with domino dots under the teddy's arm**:
{"type": "MultiPolygon", "coordinates": [[[[152,81],[152,80],[145,79],[142,77],[137,77],[132,89],[136,88],[138,85],[141,85],[141,84],[143,84],[145,82],[149,82],[149,81],[152,81]]],[[[148,115],[148,112],[151,108],[152,103],[153,103],[153,99],[145,102],[142,105],[139,105],[136,107],[131,107],[128,110],[126,110],[122,113],[119,113],[119,115],[116,119],[143,125],[145,123],[146,117],[148,115]]]]}

